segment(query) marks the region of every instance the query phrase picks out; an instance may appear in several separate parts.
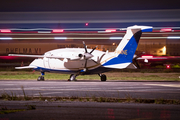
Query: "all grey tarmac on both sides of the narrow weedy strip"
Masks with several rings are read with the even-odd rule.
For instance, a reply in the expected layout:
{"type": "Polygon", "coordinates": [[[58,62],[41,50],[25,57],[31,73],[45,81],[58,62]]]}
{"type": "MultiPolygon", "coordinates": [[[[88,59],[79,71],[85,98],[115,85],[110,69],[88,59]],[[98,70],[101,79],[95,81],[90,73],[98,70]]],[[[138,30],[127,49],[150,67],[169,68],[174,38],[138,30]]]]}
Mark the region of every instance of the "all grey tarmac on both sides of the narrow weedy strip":
{"type": "MultiPolygon", "coordinates": [[[[180,82],[1,80],[1,94],[38,97],[116,97],[179,100],[180,82]]],[[[180,105],[0,100],[0,120],[178,120],[180,105]],[[13,110],[20,110],[13,112],[13,110]]]]}

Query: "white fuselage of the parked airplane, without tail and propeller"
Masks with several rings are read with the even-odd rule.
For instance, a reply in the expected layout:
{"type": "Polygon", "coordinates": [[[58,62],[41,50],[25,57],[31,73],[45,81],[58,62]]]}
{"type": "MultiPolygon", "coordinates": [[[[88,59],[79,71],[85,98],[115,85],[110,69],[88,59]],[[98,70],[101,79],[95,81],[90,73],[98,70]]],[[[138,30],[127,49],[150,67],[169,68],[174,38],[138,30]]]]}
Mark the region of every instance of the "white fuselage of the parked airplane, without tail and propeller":
{"type": "MultiPolygon", "coordinates": [[[[91,49],[87,49],[88,52],[91,49]]],[[[85,59],[80,58],[79,54],[84,54],[84,48],[64,48],[55,49],[48,51],[44,54],[44,58],[35,59],[30,66],[36,66],[39,70],[43,71],[54,71],[54,72],[77,72],[84,70],[85,59]],[[59,58],[53,58],[59,57],[59,58]],[[49,58],[52,57],[52,58],[49,58]],[[71,58],[69,58],[71,57],[71,58]]],[[[93,57],[87,60],[86,68],[88,70],[93,70],[101,66],[108,58],[111,58],[113,53],[102,52],[99,50],[94,50],[92,53],[93,57]]],[[[53,72],[52,71],[52,72],[53,72]]]]}

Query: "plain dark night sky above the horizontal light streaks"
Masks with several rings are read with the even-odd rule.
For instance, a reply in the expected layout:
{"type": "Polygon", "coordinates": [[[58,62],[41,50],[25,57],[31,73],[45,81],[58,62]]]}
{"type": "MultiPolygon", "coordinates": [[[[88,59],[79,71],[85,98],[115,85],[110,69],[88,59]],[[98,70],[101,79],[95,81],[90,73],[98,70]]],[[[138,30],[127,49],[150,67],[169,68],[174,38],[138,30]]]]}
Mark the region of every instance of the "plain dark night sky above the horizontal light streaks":
{"type": "Polygon", "coordinates": [[[0,0],[0,12],[179,9],[180,0],[0,0]]]}

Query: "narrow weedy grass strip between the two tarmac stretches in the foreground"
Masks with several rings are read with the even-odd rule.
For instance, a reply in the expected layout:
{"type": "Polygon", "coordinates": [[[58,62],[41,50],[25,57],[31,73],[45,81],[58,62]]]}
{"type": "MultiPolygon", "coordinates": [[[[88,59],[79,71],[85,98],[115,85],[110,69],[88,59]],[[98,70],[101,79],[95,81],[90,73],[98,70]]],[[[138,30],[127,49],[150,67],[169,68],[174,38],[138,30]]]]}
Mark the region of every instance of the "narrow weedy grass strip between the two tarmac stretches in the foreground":
{"type": "MultiPolygon", "coordinates": [[[[24,99],[24,96],[19,96],[16,99],[11,99],[12,97],[0,97],[0,100],[9,100],[9,101],[45,101],[45,102],[55,102],[55,101],[63,101],[63,102],[112,102],[112,103],[148,103],[148,104],[174,104],[180,105],[180,100],[176,99],[142,99],[142,98],[115,98],[115,97],[28,97],[28,99],[24,99]]],[[[30,106],[31,107],[31,106],[30,106]]],[[[32,107],[31,107],[32,108],[32,107]]],[[[35,107],[33,107],[35,108],[35,107]]]]}

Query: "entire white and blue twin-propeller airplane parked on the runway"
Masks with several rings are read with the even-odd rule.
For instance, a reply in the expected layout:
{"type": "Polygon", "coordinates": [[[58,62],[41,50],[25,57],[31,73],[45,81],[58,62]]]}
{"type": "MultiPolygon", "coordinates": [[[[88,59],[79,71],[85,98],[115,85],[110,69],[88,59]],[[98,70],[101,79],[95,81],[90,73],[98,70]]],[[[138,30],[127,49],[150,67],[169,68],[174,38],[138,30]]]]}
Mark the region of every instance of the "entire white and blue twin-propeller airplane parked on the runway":
{"type": "Polygon", "coordinates": [[[35,57],[29,66],[16,67],[16,69],[31,68],[41,72],[38,81],[44,80],[45,72],[58,72],[71,74],[69,80],[73,81],[78,75],[98,74],[101,81],[106,81],[104,72],[113,69],[136,68],[132,60],[138,46],[142,32],[151,32],[150,26],[131,26],[126,28],[126,34],[114,52],[103,52],[84,48],[63,48],[46,52],[44,55],[9,56],[35,57]]]}

